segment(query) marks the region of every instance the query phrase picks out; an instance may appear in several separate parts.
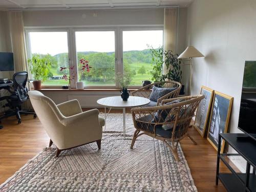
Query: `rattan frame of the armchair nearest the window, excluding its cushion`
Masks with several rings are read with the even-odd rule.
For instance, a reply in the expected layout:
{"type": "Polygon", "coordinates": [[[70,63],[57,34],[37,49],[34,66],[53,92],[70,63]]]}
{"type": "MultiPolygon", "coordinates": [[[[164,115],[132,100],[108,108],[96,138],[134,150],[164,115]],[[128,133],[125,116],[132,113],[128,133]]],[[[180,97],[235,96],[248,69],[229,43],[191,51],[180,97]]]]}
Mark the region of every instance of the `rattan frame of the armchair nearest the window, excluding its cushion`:
{"type": "MultiPolygon", "coordinates": [[[[176,98],[178,97],[181,89],[181,83],[176,82],[176,81],[159,81],[159,82],[154,82],[151,84],[148,84],[147,86],[144,86],[140,89],[137,89],[132,92],[133,96],[139,96],[139,97],[145,97],[145,98],[150,98],[152,88],[153,86],[157,87],[162,87],[162,88],[177,88],[176,90],[164,95],[163,97],[159,98],[157,100],[157,103],[154,103],[154,106],[159,105],[163,99],[170,99],[170,98],[176,98]]],[[[153,106],[153,105],[152,105],[153,106]]]]}

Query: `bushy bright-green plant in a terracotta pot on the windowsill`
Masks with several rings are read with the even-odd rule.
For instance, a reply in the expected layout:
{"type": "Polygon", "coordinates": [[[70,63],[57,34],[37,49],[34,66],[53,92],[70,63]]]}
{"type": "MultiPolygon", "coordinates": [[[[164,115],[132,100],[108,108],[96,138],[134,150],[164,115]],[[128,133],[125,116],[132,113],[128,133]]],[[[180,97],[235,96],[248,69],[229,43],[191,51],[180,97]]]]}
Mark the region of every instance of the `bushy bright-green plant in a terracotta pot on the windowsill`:
{"type": "Polygon", "coordinates": [[[41,81],[47,79],[50,72],[51,60],[48,56],[33,54],[31,59],[28,59],[29,69],[35,79],[33,86],[35,90],[41,89],[41,81]]]}

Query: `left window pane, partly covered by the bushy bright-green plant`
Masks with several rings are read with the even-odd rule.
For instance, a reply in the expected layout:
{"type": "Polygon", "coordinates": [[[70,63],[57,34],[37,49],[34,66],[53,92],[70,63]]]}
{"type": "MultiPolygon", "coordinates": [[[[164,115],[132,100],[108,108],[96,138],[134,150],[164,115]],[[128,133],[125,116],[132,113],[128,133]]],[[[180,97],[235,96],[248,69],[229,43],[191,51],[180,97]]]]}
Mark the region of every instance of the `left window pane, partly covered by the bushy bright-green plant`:
{"type": "Polygon", "coordinates": [[[67,32],[29,32],[30,56],[50,57],[51,67],[44,86],[67,85],[62,79],[64,73],[69,74],[68,33],[67,32]],[[60,71],[60,67],[67,68],[60,71]]]}

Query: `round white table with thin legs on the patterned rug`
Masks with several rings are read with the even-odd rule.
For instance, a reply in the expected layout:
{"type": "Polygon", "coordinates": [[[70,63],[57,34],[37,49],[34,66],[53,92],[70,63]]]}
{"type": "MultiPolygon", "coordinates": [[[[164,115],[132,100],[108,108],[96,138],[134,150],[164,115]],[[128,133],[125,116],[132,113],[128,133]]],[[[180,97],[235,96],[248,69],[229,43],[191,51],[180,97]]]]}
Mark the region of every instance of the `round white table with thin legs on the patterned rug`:
{"type": "Polygon", "coordinates": [[[121,96],[104,97],[97,100],[97,103],[103,105],[105,108],[105,129],[106,129],[106,116],[109,114],[111,108],[123,108],[123,138],[125,139],[125,108],[133,106],[141,106],[150,103],[150,99],[144,97],[130,96],[127,101],[123,101],[121,96]],[[108,114],[106,114],[106,107],[110,107],[108,114]]]}

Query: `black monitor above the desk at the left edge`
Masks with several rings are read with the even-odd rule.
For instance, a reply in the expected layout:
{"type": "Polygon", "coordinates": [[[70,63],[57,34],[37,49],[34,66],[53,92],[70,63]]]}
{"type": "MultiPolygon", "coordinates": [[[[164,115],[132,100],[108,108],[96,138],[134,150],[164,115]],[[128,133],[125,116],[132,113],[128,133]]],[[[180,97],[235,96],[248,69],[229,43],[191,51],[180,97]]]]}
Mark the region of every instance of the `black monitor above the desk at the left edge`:
{"type": "Polygon", "coordinates": [[[0,71],[14,71],[13,53],[0,52],[0,71]]]}

